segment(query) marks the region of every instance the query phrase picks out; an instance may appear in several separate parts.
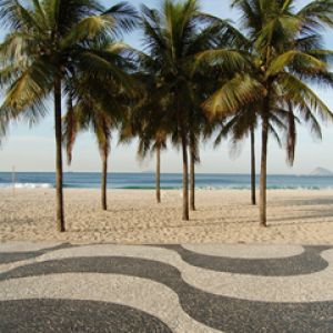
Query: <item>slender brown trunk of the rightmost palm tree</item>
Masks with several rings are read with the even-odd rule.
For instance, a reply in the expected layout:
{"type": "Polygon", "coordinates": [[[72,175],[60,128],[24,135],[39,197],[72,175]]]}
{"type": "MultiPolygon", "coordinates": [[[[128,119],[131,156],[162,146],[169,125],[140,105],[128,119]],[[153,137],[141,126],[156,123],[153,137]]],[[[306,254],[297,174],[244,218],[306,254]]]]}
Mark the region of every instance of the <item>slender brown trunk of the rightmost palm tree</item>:
{"type": "Polygon", "coordinates": [[[260,175],[260,224],[266,223],[266,176],[268,176],[268,141],[269,141],[269,119],[263,118],[262,122],[262,152],[261,152],[261,175],[260,175]]]}

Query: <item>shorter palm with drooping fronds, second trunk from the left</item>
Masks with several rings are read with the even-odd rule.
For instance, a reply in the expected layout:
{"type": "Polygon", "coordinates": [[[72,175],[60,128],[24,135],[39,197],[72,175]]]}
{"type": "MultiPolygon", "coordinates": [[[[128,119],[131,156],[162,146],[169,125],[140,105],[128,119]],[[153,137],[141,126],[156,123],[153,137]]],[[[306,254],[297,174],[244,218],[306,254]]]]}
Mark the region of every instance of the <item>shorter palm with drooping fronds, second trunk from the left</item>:
{"type": "Polygon", "coordinates": [[[67,148],[68,163],[72,161],[72,150],[79,132],[92,130],[97,139],[101,160],[101,206],[108,210],[108,160],[111,149],[111,133],[127,118],[129,101],[140,91],[135,80],[129,74],[132,63],[128,59],[131,49],[113,40],[97,46],[107,52],[110,64],[118,68],[127,84],[117,78],[100,80],[85,73],[77,74],[68,87],[68,112],[63,118],[63,143],[67,148]],[[74,105],[73,105],[74,101],[74,105]]]}

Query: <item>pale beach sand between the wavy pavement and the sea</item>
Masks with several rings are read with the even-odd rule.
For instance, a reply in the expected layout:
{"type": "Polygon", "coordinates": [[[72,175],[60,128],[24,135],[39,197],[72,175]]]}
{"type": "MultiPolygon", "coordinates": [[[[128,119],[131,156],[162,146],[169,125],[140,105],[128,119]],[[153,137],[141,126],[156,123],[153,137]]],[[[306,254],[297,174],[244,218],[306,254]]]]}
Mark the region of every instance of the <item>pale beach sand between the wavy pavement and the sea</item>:
{"type": "Polygon", "coordinates": [[[198,191],[198,211],[181,220],[181,192],[65,190],[68,232],[54,223],[54,190],[0,190],[0,241],[109,243],[333,244],[333,191],[269,191],[268,229],[249,191],[198,191]]]}

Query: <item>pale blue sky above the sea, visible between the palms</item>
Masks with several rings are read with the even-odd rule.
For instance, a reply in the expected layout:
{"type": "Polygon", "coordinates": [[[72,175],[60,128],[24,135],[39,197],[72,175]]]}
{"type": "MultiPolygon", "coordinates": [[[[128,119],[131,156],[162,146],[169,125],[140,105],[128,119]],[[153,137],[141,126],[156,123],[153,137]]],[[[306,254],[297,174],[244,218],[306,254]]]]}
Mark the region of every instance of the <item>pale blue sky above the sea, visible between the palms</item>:
{"type": "MultiPolygon", "coordinates": [[[[105,6],[112,6],[118,1],[103,0],[105,6]]],[[[139,6],[140,0],[130,1],[139,6]]],[[[297,6],[304,6],[309,0],[300,0],[297,6]]],[[[160,0],[145,0],[148,7],[160,6],[160,0]]],[[[232,19],[238,22],[238,13],[230,9],[229,0],[201,0],[202,9],[214,16],[232,19]]],[[[2,38],[0,33],[0,38],[2,38]]],[[[140,33],[133,32],[124,37],[129,44],[141,48],[140,33]]],[[[333,33],[325,34],[326,48],[333,49],[333,33]]],[[[315,90],[319,95],[333,110],[333,91],[315,90]]],[[[14,123],[10,127],[9,135],[0,148],[0,171],[10,171],[14,167],[17,171],[54,171],[54,125],[53,110],[42,121],[33,127],[27,123],[14,123]]],[[[315,168],[333,170],[333,124],[323,125],[323,141],[314,140],[309,129],[299,128],[296,159],[293,168],[286,164],[285,151],[270,140],[268,170],[271,174],[307,174],[315,168]]],[[[256,133],[256,164],[260,158],[260,133],[256,133]]],[[[113,134],[110,170],[109,172],[142,172],[154,170],[154,159],[149,157],[144,161],[137,158],[137,141],[128,145],[119,145],[117,133],[113,134]]],[[[101,169],[100,155],[95,140],[91,133],[79,135],[73,150],[71,167],[65,164],[64,170],[73,172],[99,172],[101,169]]],[[[258,168],[259,169],[259,168],[258,168]]],[[[168,148],[162,153],[162,172],[181,172],[182,159],[180,151],[168,148]]],[[[250,145],[245,140],[234,150],[230,142],[223,142],[214,149],[212,142],[201,147],[201,164],[198,165],[200,173],[249,173],[250,145]]]]}

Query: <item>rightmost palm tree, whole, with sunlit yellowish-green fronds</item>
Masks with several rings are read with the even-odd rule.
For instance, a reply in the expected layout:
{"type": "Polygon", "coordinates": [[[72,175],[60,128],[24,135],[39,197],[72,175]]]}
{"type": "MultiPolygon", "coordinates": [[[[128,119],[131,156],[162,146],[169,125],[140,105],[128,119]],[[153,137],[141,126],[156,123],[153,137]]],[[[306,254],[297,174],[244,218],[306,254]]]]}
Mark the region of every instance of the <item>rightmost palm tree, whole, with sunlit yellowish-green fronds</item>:
{"type": "MultiPolygon", "coordinates": [[[[249,69],[225,82],[205,103],[215,113],[233,113],[249,103],[260,104],[262,131],[260,222],[266,226],[266,161],[271,121],[276,113],[289,127],[289,158],[294,158],[295,113],[320,133],[316,119],[332,119],[327,105],[307,82],[332,84],[331,51],[322,49],[320,30],[333,26],[332,1],[313,1],[295,11],[295,1],[234,0],[242,13],[242,30],[253,48],[249,69]]],[[[219,51],[212,51],[219,58],[219,51]]]]}

